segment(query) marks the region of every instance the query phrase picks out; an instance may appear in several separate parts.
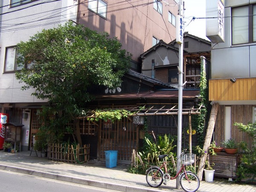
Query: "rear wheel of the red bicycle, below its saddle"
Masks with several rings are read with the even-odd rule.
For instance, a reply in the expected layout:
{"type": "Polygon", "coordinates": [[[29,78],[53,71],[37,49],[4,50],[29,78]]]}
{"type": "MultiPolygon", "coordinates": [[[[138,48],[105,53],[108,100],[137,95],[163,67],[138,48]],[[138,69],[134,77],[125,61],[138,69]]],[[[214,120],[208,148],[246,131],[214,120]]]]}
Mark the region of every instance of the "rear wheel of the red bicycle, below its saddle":
{"type": "Polygon", "coordinates": [[[163,172],[158,169],[157,167],[148,169],[146,180],[151,187],[159,187],[163,183],[163,172]]]}

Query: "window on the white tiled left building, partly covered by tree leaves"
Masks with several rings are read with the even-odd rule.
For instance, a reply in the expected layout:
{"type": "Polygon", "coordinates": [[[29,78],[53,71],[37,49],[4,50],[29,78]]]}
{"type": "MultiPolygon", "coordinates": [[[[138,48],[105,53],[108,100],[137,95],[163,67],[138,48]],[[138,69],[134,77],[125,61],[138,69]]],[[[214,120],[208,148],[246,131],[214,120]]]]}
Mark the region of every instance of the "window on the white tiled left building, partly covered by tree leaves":
{"type": "Polygon", "coordinates": [[[4,72],[15,72],[23,68],[23,66],[17,66],[17,55],[17,47],[6,47],[4,72]]]}

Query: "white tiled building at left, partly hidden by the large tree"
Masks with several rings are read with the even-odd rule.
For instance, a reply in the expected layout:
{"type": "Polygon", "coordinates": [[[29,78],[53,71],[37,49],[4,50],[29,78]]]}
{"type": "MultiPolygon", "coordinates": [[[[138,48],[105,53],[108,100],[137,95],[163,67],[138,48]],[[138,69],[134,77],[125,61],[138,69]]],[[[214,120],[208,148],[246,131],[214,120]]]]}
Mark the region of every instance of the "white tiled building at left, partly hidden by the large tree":
{"type": "Polygon", "coordinates": [[[8,113],[9,122],[22,123],[21,150],[29,149],[39,122],[36,109],[47,102],[31,96],[33,89],[20,90],[15,78],[17,49],[20,41],[42,29],[57,27],[70,19],[76,20],[76,0],[4,0],[0,3],[0,109],[8,113]],[[23,116],[23,113],[26,115],[23,116]],[[24,117],[24,118],[23,118],[24,117]],[[29,140],[28,138],[29,137],[29,140]]]}

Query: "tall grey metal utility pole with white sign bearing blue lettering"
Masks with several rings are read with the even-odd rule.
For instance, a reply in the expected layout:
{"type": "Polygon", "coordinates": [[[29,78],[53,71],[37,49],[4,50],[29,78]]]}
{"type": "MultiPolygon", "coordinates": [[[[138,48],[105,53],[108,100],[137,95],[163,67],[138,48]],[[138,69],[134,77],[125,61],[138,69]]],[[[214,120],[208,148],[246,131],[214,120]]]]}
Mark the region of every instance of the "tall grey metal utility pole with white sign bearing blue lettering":
{"type": "MultiPolygon", "coordinates": [[[[181,138],[182,138],[182,97],[183,97],[183,2],[180,0],[179,15],[176,19],[176,42],[179,44],[179,85],[178,85],[178,134],[177,134],[177,173],[181,165],[181,138]],[[177,25],[178,24],[178,25],[177,25]]],[[[176,189],[180,189],[179,177],[176,179],[176,189]]]]}

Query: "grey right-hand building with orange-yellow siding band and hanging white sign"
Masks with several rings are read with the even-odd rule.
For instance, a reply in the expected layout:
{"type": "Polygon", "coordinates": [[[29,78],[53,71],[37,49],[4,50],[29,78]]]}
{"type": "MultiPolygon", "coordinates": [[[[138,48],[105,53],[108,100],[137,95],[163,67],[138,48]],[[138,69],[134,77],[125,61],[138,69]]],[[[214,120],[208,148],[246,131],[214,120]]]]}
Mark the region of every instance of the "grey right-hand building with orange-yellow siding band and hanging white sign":
{"type": "MultiPolygon", "coordinates": [[[[224,3],[224,9],[215,12],[224,15],[207,20],[207,24],[219,25],[212,28],[215,24],[210,24],[207,28],[207,37],[212,41],[209,100],[220,104],[214,140],[222,143],[232,137],[237,142],[246,141],[251,148],[252,138],[233,124],[256,120],[256,0],[211,1],[214,2],[216,6],[224,3]],[[214,29],[223,29],[223,24],[224,34],[212,33],[214,29]]],[[[210,8],[208,3],[207,14],[211,13],[210,8]]]]}

